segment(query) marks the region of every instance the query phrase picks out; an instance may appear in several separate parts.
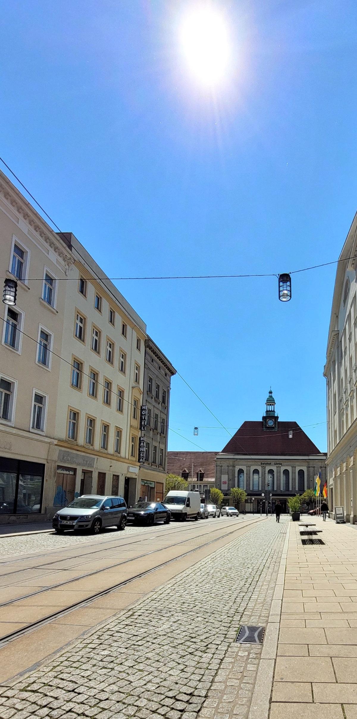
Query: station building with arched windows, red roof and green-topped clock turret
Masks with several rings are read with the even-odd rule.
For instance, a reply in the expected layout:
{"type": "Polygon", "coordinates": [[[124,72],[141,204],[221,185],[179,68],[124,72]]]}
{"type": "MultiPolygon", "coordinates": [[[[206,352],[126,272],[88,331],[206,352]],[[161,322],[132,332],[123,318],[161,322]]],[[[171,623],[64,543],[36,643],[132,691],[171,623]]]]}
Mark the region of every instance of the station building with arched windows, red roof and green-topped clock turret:
{"type": "MultiPolygon", "coordinates": [[[[270,390],[261,421],[245,421],[216,457],[216,486],[230,496],[232,487],[248,495],[247,512],[274,511],[276,500],[286,511],[289,497],[315,486],[326,477],[326,454],[297,422],[280,421],[270,390]]],[[[243,507],[241,507],[243,508],[243,507]]]]}

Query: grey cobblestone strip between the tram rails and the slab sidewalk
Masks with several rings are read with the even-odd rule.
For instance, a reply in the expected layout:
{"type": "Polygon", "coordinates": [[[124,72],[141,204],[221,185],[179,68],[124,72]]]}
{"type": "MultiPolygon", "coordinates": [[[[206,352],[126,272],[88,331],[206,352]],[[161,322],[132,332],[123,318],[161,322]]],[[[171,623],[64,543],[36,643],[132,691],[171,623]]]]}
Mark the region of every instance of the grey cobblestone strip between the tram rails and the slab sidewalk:
{"type": "Polygon", "coordinates": [[[247,716],[261,646],[235,636],[267,623],[288,527],[256,524],[7,682],[0,718],[247,716]]]}

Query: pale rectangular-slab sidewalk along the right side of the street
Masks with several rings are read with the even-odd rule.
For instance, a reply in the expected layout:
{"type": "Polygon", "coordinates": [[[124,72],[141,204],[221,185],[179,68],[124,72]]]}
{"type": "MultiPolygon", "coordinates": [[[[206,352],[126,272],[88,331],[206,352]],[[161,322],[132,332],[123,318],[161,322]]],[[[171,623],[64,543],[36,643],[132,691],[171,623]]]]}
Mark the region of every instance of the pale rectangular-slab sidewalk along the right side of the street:
{"type": "Polygon", "coordinates": [[[270,719],[357,718],[357,535],[315,521],[323,545],[290,527],[270,719]]]}

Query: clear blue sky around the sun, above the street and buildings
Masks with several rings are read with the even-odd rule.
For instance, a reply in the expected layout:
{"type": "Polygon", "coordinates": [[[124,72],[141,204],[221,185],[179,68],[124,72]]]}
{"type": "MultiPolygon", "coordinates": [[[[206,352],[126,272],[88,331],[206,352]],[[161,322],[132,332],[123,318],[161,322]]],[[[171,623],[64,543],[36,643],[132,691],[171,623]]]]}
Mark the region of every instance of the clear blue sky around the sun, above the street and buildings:
{"type": "MultiPolygon", "coordinates": [[[[213,4],[232,45],[214,95],[181,54],[187,1],[1,0],[0,154],[110,277],[340,254],[356,211],[356,2],[213,4]]],[[[271,385],[280,418],[325,450],[334,278],[294,275],[289,303],[276,278],[117,284],[230,433],[261,418],[271,385]]],[[[229,439],[177,376],[170,424],[200,449],[229,439]]],[[[194,445],[171,432],[169,449],[194,445]]]]}

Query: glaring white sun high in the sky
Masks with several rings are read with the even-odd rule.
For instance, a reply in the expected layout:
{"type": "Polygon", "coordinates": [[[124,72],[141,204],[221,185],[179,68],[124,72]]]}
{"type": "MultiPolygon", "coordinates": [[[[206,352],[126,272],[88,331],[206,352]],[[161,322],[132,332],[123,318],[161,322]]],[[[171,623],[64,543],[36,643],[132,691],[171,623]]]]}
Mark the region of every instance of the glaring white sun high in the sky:
{"type": "Polygon", "coordinates": [[[186,63],[196,80],[205,86],[220,83],[230,55],[222,14],[207,4],[191,9],[181,22],[180,38],[186,63]]]}

